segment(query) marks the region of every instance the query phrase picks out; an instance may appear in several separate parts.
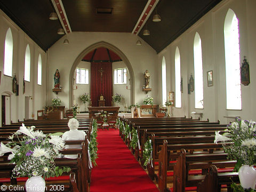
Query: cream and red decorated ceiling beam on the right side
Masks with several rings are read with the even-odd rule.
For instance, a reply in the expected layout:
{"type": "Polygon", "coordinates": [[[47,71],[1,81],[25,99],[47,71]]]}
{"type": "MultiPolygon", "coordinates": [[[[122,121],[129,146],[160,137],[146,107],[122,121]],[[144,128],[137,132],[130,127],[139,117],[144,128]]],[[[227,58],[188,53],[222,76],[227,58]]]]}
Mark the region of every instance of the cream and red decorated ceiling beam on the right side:
{"type": "Polygon", "coordinates": [[[159,0],[148,0],[144,10],[142,11],[140,18],[138,19],[135,27],[132,30],[132,34],[138,35],[142,27],[145,25],[146,21],[148,20],[151,12],[154,10],[156,4],[159,0]]]}

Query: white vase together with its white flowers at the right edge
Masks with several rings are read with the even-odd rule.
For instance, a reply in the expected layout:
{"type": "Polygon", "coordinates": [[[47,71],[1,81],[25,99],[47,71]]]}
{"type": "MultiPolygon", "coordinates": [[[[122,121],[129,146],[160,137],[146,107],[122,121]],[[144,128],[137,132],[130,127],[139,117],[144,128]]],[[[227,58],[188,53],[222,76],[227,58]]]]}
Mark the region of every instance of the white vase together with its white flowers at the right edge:
{"type": "Polygon", "coordinates": [[[244,189],[254,189],[256,181],[256,123],[236,118],[228,125],[225,133],[215,132],[214,142],[222,142],[228,159],[237,161],[235,171],[238,171],[241,186],[244,189]]]}

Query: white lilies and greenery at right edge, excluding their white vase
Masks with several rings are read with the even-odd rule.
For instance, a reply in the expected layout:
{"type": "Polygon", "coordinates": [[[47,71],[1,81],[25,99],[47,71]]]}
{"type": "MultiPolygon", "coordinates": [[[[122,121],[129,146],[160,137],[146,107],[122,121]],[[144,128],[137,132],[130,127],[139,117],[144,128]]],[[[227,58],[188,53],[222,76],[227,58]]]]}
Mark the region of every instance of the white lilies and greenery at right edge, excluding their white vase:
{"type": "Polygon", "coordinates": [[[228,159],[236,160],[235,169],[242,165],[256,165],[256,123],[236,118],[225,133],[215,132],[214,143],[222,143],[228,159]]]}

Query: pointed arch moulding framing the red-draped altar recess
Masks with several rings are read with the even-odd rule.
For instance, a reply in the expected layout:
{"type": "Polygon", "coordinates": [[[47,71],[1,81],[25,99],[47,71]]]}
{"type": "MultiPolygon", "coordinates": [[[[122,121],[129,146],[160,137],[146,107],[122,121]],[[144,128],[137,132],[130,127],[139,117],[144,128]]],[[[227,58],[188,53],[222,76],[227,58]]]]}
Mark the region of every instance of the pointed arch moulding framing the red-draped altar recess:
{"type": "MultiPolygon", "coordinates": [[[[111,50],[115,54],[117,54],[119,56],[119,58],[122,59],[125,66],[127,67],[127,70],[129,71],[129,75],[130,75],[130,79],[127,79],[127,85],[130,84],[130,104],[134,103],[134,97],[135,97],[135,95],[134,95],[135,94],[134,93],[134,73],[133,73],[133,69],[132,69],[130,61],[127,59],[126,55],[121,50],[119,50],[116,46],[111,45],[107,42],[98,42],[98,43],[92,44],[91,46],[89,46],[85,50],[83,50],[78,55],[78,57],[76,58],[76,60],[73,63],[73,66],[71,67],[70,74],[69,74],[69,90],[70,90],[69,91],[69,107],[71,107],[74,104],[74,87],[73,87],[74,83],[73,82],[75,79],[75,76],[74,76],[75,70],[76,70],[78,64],[83,60],[85,55],[87,55],[90,52],[92,52],[93,50],[99,49],[101,47],[105,47],[106,49],[111,50]]],[[[115,93],[113,92],[113,94],[115,94],[115,93]]]]}

